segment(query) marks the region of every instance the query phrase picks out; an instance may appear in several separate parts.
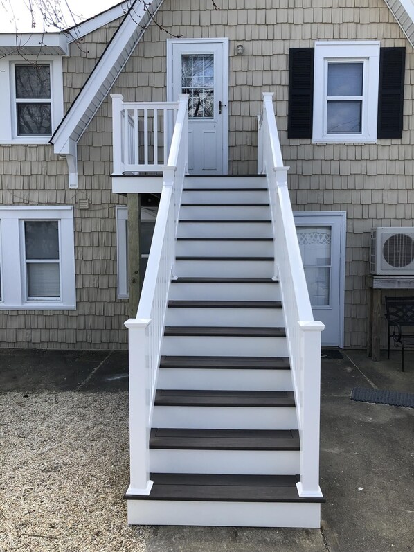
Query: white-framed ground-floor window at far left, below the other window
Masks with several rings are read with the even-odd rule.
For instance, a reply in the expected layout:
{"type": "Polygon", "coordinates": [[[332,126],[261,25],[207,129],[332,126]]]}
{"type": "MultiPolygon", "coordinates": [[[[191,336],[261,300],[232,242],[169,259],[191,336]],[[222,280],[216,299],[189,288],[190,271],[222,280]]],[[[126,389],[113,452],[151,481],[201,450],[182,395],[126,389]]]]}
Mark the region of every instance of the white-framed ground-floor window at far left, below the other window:
{"type": "Polygon", "coordinates": [[[0,206],[0,309],[75,309],[73,207],[0,206]]]}

